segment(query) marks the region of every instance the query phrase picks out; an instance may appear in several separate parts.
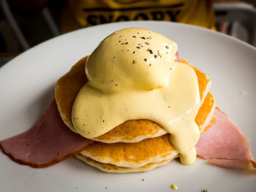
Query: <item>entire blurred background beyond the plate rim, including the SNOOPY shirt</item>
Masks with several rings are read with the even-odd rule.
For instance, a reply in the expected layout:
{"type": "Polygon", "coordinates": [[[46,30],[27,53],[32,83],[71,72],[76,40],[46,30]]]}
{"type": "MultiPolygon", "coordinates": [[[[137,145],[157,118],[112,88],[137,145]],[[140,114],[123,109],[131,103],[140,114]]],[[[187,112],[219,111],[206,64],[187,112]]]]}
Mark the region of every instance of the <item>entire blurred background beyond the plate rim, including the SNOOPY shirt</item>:
{"type": "Polygon", "coordinates": [[[125,20],[165,20],[210,28],[256,45],[256,1],[0,0],[0,67],[47,39],[125,20]]]}

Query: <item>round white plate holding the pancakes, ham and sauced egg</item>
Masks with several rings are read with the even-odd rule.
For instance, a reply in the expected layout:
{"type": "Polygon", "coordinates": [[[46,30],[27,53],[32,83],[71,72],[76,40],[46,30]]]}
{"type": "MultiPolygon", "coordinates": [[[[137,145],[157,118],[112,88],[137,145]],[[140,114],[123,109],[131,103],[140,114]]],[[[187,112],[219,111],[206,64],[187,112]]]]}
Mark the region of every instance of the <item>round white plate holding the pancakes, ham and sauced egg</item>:
{"type": "MultiPolygon", "coordinates": [[[[211,93],[244,132],[256,157],[256,49],[204,28],[178,23],[127,22],[95,26],[62,35],[19,55],[0,69],[0,140],[26,131],[54,96],[54,84],[108,34],[141,27],[173,39],[180,55],[211,77],[211,93]]],[[[256,174],[222,169],[198,159],[176,161],[151,172],[108,174],[75,158],[33,169],[0,153],[0,191],[255,191],[256,174]],[[142,180],[144,179],[144,180],[142,180]],[[107,187],[107,188],[106,188],[107,187]]]]}

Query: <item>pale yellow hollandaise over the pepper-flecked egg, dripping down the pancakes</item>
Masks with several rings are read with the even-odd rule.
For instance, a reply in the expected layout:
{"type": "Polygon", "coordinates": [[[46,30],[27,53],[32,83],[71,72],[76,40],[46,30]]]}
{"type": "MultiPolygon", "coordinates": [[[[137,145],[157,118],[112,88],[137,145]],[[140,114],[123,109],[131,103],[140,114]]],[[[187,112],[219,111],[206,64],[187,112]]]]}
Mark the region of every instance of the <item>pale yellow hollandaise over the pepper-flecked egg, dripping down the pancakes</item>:
{"type": "Polygon", "coordinates": [[[142,28],[106,37],[86,63],[88,82],[72,107],[75,130],[99,137],[126,120],[148,119],[170,133],[182,164],[192,164],[200,132],[194,69],[174,61],[175,42],[142,28]]]}

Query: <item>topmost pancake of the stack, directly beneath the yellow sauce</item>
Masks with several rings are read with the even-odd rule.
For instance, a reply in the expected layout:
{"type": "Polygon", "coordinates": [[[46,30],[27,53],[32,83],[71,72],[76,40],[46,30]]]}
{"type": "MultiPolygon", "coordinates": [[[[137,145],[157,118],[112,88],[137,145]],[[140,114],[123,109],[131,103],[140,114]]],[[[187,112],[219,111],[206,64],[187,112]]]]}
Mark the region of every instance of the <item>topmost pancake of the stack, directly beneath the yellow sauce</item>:
{"type": "MultiPolygon", "coordinates": [[[[64,123],[72,130],[75,131],[75,128],[72,126],[72,104],[75,100],[75,97],[80,91],[80,88],[87,82],[85,74],[86,60],[88,56],[82,58],[78,63],[72,66],[72,69],[61,77],[56,83],[56,102],[58,109],[64,123]]],[[[189,64],[184,59],[182,62],[189,64]]],[[[192,66],[193,67],[193,66],[192,66]]],[[[200,90],[200,99],[201,104],[205,100],[208,89],[211,86],[211,80],[204,74],[200,72],[197,68],[193,67],[197,74],[197,80],[200,90]]],[[[205,104],[208,105],[208,104],[205,104]]],[[[206,114],[206,112],[204,112],[206,114]]],[[[210,116],[203,116],[204,118],[211,119],[210,116]]],[[[206,121],[203,120],[200,116],[200,122],[203,122],[201,127],[206,126],[206,121]]],[[[100,137],[96,137],[93,140],[105,143],[113,142],[140,142],[143,139],[159,137],[167,132],[161,128],[157,123],[154,123],[150,120],[128,120],[122,123],[116,128],[113,128],[111,131],[108,131],[106,134],[103,134],[100,137]]]]}

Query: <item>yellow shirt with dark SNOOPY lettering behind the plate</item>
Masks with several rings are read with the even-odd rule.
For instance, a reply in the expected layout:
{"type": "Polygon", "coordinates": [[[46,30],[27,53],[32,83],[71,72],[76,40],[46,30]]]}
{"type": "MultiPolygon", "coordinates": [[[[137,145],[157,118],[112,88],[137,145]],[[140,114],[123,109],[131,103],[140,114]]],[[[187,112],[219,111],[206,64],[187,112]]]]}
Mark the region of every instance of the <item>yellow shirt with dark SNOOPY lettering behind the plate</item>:
{"type": "Polygon", "coordinates": [[[62,31],[125,20],[165,20],[214,28],[209,0],[69,0],[62,31]]]}

